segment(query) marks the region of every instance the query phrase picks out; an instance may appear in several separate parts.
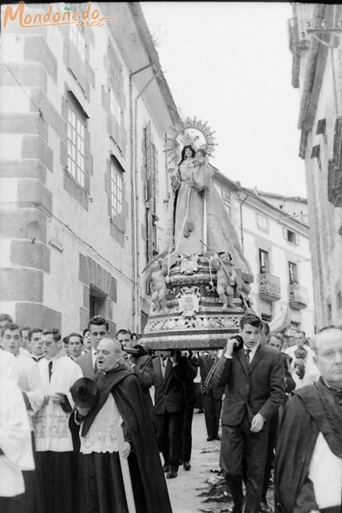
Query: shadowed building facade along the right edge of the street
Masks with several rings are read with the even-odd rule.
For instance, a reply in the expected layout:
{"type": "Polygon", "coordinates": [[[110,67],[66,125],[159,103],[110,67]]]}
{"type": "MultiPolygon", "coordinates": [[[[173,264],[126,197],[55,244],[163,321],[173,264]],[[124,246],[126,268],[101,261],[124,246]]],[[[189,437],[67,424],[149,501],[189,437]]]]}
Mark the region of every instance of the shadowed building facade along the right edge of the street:
{"type": "Polygon", "coordinates": [[[342,6],[293,4],[292,85],[299,89],[317,328],[342,326],[342,6]]]}

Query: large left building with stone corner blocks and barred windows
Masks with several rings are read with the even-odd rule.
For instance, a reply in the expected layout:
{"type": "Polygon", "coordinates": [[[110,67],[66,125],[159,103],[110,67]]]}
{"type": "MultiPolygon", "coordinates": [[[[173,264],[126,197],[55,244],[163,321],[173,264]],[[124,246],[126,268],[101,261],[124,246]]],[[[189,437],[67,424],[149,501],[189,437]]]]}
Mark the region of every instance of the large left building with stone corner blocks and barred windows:
{"type": "Polygon", "coordinates": [[[0,311],[63,334],[94,314],[141,330],[178,119],[140,4],[92,8],[114,20],[1,30],[0,311]]]}

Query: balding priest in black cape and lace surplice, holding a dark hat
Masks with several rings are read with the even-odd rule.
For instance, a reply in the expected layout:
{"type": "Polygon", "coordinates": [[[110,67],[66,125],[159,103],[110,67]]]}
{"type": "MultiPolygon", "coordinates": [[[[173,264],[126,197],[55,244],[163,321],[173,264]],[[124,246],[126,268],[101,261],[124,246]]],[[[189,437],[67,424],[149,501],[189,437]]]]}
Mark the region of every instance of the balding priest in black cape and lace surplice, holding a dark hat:
{"type": "Polygon", "coordinates": [[[171,513],[139,378],[121,364],[117,340],[102,339],[97,351],[97,398],[94,406],[78,405],[75,412],[80,424],[79,512],[171,513]]]}

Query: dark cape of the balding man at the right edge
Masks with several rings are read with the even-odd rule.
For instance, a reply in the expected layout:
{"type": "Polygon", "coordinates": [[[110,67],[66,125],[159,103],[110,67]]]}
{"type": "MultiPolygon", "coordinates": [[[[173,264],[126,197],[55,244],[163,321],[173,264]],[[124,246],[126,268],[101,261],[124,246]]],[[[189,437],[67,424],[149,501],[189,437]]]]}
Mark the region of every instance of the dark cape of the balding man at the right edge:
{"type": "MultiPolygon", "coordinates": [[[[319,509],[308,478],[319,433],[334,455],[342,458],[342,393],[327,387],[322,378],[300,388],[284,409],[274,467],[277,513],[307,513],[319,509]]],[[[327,490],[329,493],[329,490],[327,490]]],[[[322,511],[322,510],[321,510],[322,511]]],[[[341,505],[323,510],[341,513],[341,505]]]]}

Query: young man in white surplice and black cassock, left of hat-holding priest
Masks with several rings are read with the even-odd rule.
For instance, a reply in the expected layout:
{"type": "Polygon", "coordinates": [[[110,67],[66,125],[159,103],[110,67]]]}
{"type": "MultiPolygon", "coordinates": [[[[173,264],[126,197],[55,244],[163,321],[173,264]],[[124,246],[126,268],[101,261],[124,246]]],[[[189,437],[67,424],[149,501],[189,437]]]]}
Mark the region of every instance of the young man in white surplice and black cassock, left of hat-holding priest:
{"type": "Polygon", "coordinates": [[[57,329],[42,331],[44,359],[39,373],[44,391],[44,406],[35,415],[37,469],[44,490],[45,511],[75,512],[75,455],[68,426],[73,400],[70,389],[83,377],[80,366],[62,356],[63,342],[57,329]]]}

